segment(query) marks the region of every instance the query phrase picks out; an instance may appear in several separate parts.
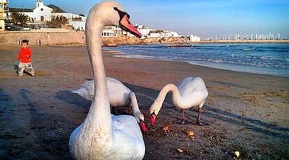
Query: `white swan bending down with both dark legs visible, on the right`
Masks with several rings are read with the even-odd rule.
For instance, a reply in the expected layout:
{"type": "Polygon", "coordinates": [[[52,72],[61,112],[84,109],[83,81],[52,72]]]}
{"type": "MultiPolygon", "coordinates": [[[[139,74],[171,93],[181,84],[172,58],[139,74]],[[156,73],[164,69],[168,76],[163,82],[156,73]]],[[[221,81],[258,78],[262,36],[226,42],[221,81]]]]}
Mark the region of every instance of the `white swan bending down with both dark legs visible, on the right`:
{"type": "Polygon", "coordinates": [[[154,126],[156,122],[156,115],[158,115],[158,112],[163,105],[165,96],[170,91],[172,92],[172,102],[178,109],[181,109],[181,120],[177,120],[175,122],[184,125],[185,122],[188,122],[186,118],[184,118],[184,109],[190,109],[193,106],[198,106],[198,118],[193,123],[203,125],[202,122],[200,122],[200,113],[202,111],[202,106],[205,103],[205,99],[208,96],[208,91],[205,82],[200,77],[186,77],[181,79],[178,86],[175,86],[175,84],[165,85],[158,94],[154,104],[151,105],[151,125],[154,126]]]}

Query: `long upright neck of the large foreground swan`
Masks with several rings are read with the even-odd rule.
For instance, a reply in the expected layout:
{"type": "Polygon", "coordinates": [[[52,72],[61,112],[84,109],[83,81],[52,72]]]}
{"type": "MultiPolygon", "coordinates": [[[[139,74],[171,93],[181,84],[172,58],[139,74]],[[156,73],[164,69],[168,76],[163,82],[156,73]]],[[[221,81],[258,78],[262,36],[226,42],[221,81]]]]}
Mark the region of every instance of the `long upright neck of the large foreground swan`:
{"type": "Polygon", "coordinates": [[[112,117],[110,115],[110,100],[108,85],[105,77],[105,68],[101,54],[101,33],[103,23],[97,20],[97,15],[91,13],[87,18],[86,37],[89,60],[94,74],[94,102],[92,102],[87,118],[84,120],[84,129],[97,131],[103,136],[112,134],[112,117]],[[98,21],[98,22],[97,22],[98,21]]]}

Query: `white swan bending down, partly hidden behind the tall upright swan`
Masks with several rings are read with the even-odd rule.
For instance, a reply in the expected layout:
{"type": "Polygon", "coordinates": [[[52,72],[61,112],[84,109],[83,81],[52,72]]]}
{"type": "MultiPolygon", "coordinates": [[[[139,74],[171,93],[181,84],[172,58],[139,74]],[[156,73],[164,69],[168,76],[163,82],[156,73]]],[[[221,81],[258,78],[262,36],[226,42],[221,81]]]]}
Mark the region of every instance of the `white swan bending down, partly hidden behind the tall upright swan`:
{"type": "MultiPolygon", "coordinates": [[[[144,125],[144,115],[140,112],[135,93],[117,79],[110,77],[106,79],[108,83],[108,95],[110,96],[110,106],[131,106],[133,108],[133,116],[138,121],[140,129],[147,131],[147,127],[144,125]]],[[[80,89],[71,90],[71,92],[77,93],[84,99],[92,101],[94,99],[94,80],[82,83],[80,89]]],[[[112,110],[114,110],[114,108],[112,108],[112,110]]]]}

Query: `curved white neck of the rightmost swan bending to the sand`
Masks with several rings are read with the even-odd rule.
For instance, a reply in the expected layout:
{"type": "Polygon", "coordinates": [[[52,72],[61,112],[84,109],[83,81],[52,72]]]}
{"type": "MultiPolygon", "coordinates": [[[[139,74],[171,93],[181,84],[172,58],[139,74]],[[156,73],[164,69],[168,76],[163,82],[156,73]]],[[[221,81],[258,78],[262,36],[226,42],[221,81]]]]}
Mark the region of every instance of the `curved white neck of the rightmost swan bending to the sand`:
{"type": "MultiPolygon", "coordinates": [[[[167,84],[163,87],[163,89],[161,89],[161,92],[158,94],[158,97],[156,97],[156,100],[154,100],[155,104],[159,104],[157,105],[157,107],[161,108],[161,106],[163,105],[163,102],[165,101],[165,96],[169,93],[172,92],[172,100],[174,102],[174,104],[178,104],[179,101],[181,100],[181,95],[179,94],[179,89],[177,88],[177,86],[175,86],[175,84],[167,84]]],[[[158,109],[159,111],[159,109],[158,109]]]]}

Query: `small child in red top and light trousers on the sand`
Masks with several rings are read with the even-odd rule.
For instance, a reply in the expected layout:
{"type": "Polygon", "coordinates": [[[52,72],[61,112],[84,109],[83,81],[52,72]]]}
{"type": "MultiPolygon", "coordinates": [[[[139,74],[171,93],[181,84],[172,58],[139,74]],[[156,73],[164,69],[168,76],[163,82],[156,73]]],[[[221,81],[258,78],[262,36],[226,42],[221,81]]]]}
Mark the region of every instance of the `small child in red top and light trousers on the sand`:
{"type": "Polygon", "coordinates": [[[25,70],[25,67],[27,68],[29,74],[31,74],[32,77],[34,77],[35,75],[31,64],[32,52],[29,49],[28,44],[29,44],[28,40],[22,40],[21,42],[21,48],[17,56],[17,60],[21,59],[18,65],[17,77],[23,76],[23,71],[25,70]]]}

